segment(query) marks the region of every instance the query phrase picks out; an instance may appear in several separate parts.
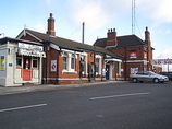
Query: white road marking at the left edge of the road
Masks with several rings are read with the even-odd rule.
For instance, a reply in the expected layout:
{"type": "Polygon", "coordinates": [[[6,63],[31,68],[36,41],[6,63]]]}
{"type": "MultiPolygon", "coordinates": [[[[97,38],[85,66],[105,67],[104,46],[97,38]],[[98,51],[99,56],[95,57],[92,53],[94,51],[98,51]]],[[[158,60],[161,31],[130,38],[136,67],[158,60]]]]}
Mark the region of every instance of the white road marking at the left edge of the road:
{"type": "Polygon", "coordinates": [[[37,105],[29,105],[29,106],[23,106],[23,107],[7,108],[7,109],[0,109],[0,112],[10,112],[10,110],[17,110],[17,109],[26,109],[26,108],[40,107],[40,106],[46,106],[46,105],[47,104],[37,104],[37,105]]]}

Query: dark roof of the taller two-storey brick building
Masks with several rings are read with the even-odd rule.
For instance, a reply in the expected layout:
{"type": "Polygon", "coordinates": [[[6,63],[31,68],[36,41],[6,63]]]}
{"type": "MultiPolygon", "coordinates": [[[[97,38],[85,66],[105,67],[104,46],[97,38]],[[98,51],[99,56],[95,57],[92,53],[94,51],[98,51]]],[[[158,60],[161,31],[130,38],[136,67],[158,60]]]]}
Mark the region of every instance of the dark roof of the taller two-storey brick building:
{"type": "MultiPolygon", "coordinates": [[[[107,44],[107,38],[97,39],[94,46],[105,48],[107,44]]],[[[134,46],[147,46],[139,37],[136,35],[126,35],[118,37],[118,45],[115,48],[120,47],[134,47],[134,46]]]]}

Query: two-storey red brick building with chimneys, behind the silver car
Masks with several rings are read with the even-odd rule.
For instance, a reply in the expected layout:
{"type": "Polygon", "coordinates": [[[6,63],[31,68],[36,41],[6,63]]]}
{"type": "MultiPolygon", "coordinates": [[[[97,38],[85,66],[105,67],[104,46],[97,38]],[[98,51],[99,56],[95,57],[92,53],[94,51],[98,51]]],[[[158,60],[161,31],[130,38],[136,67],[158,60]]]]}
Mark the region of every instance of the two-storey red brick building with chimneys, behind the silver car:
{"type": "Polygon", "coordinates": [[[150,33],[145,31],[145,40],[136,35],[116,36],[115,28],[109,30],[106,38],[97,39],[94,46],[107,48],[108,50],[122,55],[122,77],[128,79],[136,71],[153,70],[150,33]]]}

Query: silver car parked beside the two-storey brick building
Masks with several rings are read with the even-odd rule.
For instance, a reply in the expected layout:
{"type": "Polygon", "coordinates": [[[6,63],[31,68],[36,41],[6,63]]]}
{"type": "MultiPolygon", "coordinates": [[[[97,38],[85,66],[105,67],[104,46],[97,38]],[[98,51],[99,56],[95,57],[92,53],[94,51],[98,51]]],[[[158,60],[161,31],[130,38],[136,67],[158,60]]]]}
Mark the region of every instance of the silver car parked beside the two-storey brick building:
{"type": "Polygon", "coordinates": [[[169,81],[169,78],[167,75],[160,75],[151,71],[138,71],[137,73],[130,74],[130,79],[136,83],[136,82],[144,82],[144,81],[152,81],[155,83],[163,83],[169,81]]]}

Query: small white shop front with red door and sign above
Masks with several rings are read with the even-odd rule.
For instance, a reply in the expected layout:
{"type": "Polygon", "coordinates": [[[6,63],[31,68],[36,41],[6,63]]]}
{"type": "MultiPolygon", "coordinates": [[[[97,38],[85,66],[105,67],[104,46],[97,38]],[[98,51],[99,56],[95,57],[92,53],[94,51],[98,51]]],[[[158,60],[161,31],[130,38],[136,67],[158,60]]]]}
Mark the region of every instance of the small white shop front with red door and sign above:
{"type": "Polygon", "coordinates": [[[0,85],[41,84],[42,58],[46,57],[44,47],[19,39],[7,38],[0,52],[4,57],[4,69],[0,70],[0,85]]]}

